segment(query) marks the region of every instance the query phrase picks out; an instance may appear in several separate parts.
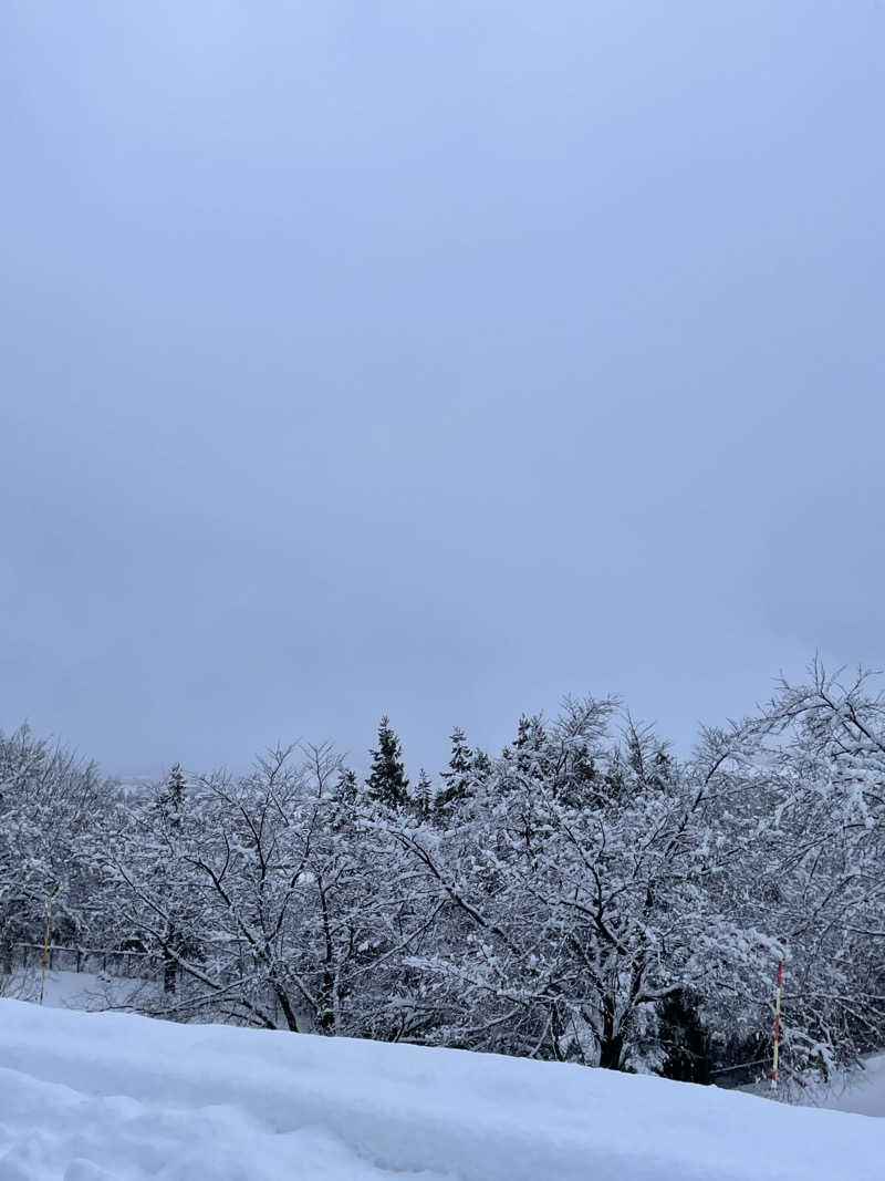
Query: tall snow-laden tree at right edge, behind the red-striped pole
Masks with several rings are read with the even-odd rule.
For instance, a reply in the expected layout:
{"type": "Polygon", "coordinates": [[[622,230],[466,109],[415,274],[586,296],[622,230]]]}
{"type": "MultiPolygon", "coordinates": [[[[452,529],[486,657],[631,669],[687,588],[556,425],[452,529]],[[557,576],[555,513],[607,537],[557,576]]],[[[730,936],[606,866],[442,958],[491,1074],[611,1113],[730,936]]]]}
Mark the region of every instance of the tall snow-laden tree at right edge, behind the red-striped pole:
{"type": "Polygon", "coordinates": [[[885,702],[815,660],[749,727],[749,898],[785,951],[785,1063],[827,1071],[885,1042],[885,702]]]}

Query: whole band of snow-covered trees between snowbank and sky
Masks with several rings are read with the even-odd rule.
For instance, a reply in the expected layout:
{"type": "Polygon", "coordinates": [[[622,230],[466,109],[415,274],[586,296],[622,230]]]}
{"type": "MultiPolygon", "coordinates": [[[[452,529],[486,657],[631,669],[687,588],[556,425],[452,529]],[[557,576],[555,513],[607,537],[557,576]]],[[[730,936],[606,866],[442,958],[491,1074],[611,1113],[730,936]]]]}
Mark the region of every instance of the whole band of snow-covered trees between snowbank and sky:
{"type": "Polygon", "coordinates": [[[885,1044],[885,704],[815,664],[688,759],[614,699],[452,735],[409,782],[382,719],[363,781],[328,745],[123,792],[0,736],[0,970],[52,939],[159,965],[150,1014],[653,1070],[885,1044]]]}

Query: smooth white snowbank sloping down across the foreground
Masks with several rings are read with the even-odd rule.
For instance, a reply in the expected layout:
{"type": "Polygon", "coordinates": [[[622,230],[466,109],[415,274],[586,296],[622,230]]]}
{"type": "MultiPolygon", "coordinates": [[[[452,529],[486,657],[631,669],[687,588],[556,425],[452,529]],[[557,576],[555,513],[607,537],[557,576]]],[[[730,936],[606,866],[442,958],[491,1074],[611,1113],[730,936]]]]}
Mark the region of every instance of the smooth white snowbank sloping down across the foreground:
{"type": "Polygon", "coordinates": [[[0,1181],[880,1181],[885,1121],[491,1055],[0,1001],[0,1181]]]}

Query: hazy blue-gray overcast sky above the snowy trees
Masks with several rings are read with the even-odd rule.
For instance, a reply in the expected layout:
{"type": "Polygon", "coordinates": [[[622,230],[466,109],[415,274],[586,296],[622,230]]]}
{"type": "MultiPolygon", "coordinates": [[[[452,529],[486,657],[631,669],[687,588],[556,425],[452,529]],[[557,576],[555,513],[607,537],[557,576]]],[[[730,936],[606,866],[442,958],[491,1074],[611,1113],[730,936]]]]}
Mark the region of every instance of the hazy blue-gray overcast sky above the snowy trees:
{"type": "Polygon", "coordinates": [[[885,665],[877,0],[0,7],[0,726],[412,771],[885,665]]]}

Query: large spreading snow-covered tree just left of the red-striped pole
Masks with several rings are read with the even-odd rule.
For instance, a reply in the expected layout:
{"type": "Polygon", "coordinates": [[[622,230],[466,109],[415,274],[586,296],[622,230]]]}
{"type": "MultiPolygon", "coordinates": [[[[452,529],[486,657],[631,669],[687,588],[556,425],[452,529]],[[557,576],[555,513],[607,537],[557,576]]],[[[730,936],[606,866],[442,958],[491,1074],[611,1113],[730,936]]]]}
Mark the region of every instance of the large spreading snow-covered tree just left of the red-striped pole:
{"type": "Polygon", "coordinates": [[[756,985],[765,937],[706,889],[732,855],[710,831],[729,752],[682,770],[631,723],[622,745],[614,709],[529,723],[445,834],[394,829],[439,907],[424,967],[457,1044],[654,1064],[663,1000],[756,985]]]}

